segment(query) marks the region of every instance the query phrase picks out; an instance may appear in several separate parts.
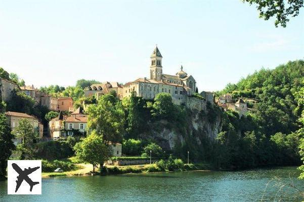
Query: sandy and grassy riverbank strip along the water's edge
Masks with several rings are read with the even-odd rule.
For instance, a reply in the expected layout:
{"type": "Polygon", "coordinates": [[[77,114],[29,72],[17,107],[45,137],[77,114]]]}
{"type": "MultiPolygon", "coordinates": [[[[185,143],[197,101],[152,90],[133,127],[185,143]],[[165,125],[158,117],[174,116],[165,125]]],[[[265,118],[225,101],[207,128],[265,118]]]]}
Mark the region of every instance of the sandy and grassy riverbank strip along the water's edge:
{"type": "MultiPolygon", "coordinates": [[[[88,176],[93,174],[93,166],[91,164],[75,164],[81,169],[75,171],[67,171],[62,173],[42,172],[42,178],[49,177],[70,177],[70,176],[88,176]]],[[[105,166],[101,175],[131,174],[131,173],[159,173],[159,172],[182,172],[182,171],[210,171],[208,164],[184,164],[184,168],[180,170],[168,171],[160,169],[156,164],[132,165],[132,166],[105,166]]]]}

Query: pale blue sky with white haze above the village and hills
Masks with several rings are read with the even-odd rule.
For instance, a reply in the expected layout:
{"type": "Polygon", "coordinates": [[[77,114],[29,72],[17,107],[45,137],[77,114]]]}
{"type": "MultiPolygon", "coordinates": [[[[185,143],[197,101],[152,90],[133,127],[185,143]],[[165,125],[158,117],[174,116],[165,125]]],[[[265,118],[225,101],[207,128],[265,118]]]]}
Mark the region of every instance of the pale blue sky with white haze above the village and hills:
{"type": "Polygon", "coordinates": [[[262,67],[304,59],[304,10],[286,28],[254,6],[223,1],[0,1],[0,66],[27,85],[149,77],[158,44],[163,73],[180,65],[199,91],[262,67]]]}

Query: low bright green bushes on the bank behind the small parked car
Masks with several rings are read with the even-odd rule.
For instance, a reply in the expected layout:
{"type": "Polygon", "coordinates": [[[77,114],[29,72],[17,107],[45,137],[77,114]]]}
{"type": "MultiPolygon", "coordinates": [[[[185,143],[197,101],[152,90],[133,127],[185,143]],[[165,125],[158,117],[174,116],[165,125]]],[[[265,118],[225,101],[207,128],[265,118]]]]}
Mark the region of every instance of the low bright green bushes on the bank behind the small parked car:
{"type": "Polygon", "coordinates": [[[70,162],[64,162],[64,161],[47,161],[42,160],[42,172],[54,172],[57,168],[61,168],[63,171],[72,171],[77,170],[78,167],[75,164],[72,164],[70,162]]]}

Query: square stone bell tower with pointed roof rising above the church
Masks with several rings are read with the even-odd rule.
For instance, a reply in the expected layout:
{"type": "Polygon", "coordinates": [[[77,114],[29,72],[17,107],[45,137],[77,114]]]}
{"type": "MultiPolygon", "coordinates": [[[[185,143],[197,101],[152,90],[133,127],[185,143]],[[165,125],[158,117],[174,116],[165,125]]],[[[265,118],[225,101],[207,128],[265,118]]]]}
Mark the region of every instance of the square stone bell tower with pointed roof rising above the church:
{"type": "Polygon", "coordinates": [[[150,66],[150,79],[160,81],[162,77],[162,66],[161,60],[162,56],[159,52],[159,49],[156,47],[151,55],[151,66],[150,66]]]}

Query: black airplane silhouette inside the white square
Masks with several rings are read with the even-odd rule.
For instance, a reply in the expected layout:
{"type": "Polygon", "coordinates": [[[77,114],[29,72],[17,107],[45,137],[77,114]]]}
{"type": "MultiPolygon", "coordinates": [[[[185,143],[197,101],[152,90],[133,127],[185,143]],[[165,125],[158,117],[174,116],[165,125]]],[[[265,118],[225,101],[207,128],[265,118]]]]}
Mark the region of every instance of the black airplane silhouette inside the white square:
{"type": "Polygon", "coordinates": [[[23,180],[25,180],[30,185],[30,189],[29,189],[30,191],[32,191],[34,185],[39,184],[39,182],[33,182],[28,177],[28,175],[40,167],[35,167],[35,168],[28,167],[28,169],[25,168],[24,171],[15,163],[12,164],[12,167],[19,174],[19,176],[17,177],[18,180],[16,180],[17,185],[16,185],[15,193],[18,191],[23,180]]]}

